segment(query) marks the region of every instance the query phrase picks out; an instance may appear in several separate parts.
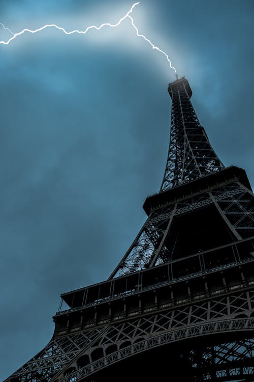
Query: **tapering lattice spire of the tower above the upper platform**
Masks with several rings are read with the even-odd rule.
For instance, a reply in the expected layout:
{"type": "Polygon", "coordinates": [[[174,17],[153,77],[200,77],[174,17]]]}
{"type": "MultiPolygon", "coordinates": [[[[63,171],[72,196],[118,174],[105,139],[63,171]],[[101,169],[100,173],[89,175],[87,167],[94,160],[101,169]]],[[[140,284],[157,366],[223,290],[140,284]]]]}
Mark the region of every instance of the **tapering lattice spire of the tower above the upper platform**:
{"type": "Polygon", "coordinates": [[[213,151],[181,79],[172,90],[170,145],[160,191],[224,168],[213,151]]]}

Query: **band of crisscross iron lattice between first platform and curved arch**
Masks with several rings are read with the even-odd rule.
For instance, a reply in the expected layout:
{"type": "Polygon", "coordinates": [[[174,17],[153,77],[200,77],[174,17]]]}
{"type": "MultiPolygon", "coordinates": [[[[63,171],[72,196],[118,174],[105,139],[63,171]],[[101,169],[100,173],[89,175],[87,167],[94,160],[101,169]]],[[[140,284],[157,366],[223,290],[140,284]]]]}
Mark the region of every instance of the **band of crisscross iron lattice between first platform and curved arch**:
{"type": "MultiPolygon", "coordinates": [[[[166,312],[151,314],[147,317],[125,321],[108,326],[96,346],[104,347],[118,344],[118,348],[148,338],[151,335],[168,332],[177,328],[189,328],[198,323],[210,320],[220,320],[226,317],[241,315],[247,317],[254,308],[254,291],[234,293],[228,297],[217,297],[211,301],[199,302],[185,307],[175,308],[166,312]],[[127,341],[125,343],[125,341],[127,341]],[[130,343],[129,343],[130,344],[130,343]]],[[[92,359],[91,359],[92,361],[92,359]]]]}

